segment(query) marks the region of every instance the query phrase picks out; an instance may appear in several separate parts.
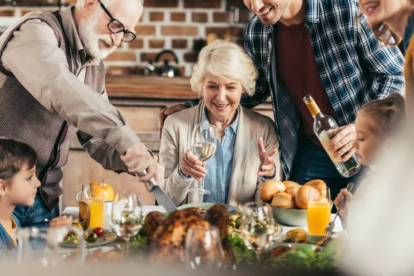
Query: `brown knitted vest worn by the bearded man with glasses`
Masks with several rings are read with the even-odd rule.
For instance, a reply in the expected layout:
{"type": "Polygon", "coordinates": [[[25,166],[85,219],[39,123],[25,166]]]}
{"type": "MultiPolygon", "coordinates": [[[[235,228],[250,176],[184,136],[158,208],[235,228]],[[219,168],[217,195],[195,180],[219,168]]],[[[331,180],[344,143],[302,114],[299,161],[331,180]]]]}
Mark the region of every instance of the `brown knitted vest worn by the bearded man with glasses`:
{"type": "MultiPolygon", "coordinates": [[[[17,139],[36,150],[38,159],[36,175],[41,181],[39,194],[49,210],[57,206],[63,193],[59,186],[61,168],[68,161],[69,140],[77,129],[70,126],[57,113],[48,111],[26,88],[1,64],[3,49],[23,23],[40,19],[55,31],[59,48],[66,53],[68,68],[72,71],[70,44],[61,22],[59,12],[30,12],[0,37],[0,136],[17,139]]],[[[86,69],[86,85],[101,94],[105,85],[105,68],[98,66],[86,69]]]]}

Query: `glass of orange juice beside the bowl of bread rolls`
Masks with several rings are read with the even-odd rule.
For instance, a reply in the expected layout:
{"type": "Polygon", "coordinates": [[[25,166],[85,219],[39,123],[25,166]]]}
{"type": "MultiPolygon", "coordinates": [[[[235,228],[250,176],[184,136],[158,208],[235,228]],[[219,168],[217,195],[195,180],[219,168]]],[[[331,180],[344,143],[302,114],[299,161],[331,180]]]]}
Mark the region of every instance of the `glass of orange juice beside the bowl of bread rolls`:
{"type": "Polygon", "coordinates": [[[326,188],[326,198],[308,202],[308,231],[311,235],[323,236],[331,221],[331,190],[326,188]]]}

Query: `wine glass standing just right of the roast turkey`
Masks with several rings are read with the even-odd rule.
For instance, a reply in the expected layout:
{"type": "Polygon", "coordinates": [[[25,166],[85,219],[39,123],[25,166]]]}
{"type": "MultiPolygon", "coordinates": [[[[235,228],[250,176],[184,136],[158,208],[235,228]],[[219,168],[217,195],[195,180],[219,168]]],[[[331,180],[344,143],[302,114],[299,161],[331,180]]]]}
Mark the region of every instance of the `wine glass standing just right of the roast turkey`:
{"type": "Polygon", "coordinates": [[[247,248],[255,250],[257,262],[262,262],[262,253],[272,241],[275,233],[273,210],[268,204],[248,202],[242,206],[242,237],[247,248]]]}

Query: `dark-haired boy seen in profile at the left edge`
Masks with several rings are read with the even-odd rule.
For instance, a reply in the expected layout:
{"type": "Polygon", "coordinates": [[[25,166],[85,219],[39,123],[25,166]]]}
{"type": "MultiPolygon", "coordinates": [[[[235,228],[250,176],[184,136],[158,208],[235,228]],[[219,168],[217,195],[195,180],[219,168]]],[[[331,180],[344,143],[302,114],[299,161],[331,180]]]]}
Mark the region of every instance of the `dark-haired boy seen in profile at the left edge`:
{"type": "MultiPolygon", "coordinates": [[[[0,137],[0,259],[17,246],[13,233],[20,227],[14,215],[17,205],[32,206],[40,181],[36,177],[37,154],[28,146],[0,137]]],[[[72,217],[57,217],[50,227],[71,226],[72,217]]]]}

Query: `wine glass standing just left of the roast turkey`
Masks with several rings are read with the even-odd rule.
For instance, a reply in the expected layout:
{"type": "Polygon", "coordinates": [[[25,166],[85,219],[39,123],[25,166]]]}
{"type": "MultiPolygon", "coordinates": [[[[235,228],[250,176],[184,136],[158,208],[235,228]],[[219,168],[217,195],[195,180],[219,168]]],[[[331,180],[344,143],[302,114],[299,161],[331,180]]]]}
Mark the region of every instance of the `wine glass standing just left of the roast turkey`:
{"type": "Polygon", "coordinates": [[[126,242],[126,261],[129,262],[129,241],[138,235],[142,227],[142,205],[139,196],[133,192],[115,195],[119,199],[112,206],[112,229],[126,242]]]}

